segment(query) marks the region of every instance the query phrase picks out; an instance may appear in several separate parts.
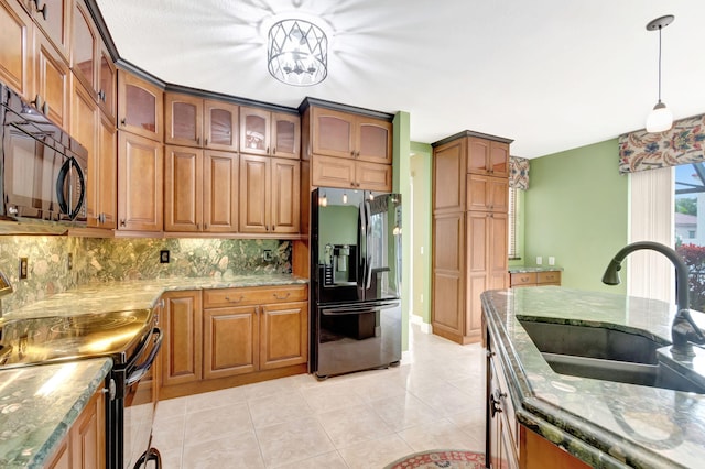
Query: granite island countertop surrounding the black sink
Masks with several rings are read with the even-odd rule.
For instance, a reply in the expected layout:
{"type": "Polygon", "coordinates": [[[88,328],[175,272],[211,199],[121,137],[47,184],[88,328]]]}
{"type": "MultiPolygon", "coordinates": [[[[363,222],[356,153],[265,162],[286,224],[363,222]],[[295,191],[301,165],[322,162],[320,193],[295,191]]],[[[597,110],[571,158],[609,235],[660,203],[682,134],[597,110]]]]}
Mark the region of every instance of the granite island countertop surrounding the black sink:
{"type": "MultiPolygon", "coordinates": [[[[485,292],[482,306],[521,424],[593,467],[702,467],[705,395],[557,374],[517,320],[609,324],[670,343],[674,306],[555,286],[485,292]]],[[[701,327],[703,316],[693,313],[701,327]]],[[[696,351],[691,367],[703,373],[696,351]]]]}

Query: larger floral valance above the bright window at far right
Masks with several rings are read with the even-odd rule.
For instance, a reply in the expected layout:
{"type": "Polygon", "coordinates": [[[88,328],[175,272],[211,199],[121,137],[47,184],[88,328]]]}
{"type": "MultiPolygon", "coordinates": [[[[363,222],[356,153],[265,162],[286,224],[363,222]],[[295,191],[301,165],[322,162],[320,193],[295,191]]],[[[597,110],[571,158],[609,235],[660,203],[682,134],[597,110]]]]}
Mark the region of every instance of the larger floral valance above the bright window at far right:
{"type": "Polygon", "coordinates": [[[619,135],[619,173],[658,170],[705,161],[705,114],[681,119],[671,130],[619,135]]]}

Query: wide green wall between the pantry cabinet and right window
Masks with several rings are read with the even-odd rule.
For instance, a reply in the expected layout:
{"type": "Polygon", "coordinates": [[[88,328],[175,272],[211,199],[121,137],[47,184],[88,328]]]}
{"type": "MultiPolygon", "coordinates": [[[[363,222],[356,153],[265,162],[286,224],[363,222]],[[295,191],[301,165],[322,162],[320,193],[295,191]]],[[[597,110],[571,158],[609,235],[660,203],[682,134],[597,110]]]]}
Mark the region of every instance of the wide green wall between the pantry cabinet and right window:
{"type": "MultiPolygon", "coordinates": [[[[628,178],[620,176],[617,139],[531,160],[525,193],[525,265],[550,255],[563,286],[626,293],[603,273],[628,240],[628,178]]],[[[626,277],[626,276],[623,276],[626,277]]]]}

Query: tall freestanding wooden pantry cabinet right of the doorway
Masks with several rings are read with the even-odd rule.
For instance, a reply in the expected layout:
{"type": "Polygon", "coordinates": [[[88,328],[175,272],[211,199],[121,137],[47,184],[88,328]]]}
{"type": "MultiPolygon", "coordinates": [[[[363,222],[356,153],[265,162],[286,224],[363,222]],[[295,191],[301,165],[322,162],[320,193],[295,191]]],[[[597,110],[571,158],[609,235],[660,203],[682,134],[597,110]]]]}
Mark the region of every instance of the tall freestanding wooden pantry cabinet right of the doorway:
{"type": "Polygon", "coordinates": [[[509,285],[509,144],[464,131],[433,143],[433,332],[481,338],[480,294],[509,285]]]}

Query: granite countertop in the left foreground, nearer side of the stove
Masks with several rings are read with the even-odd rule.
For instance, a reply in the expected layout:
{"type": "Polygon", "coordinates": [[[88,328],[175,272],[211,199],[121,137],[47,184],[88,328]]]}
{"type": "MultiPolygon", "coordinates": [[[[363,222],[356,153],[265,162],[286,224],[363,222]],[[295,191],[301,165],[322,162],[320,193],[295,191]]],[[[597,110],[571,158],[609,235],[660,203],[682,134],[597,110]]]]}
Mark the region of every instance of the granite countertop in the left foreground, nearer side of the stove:
{"type": "Polygon", "coordinates": [[[111,367],[95,359],[0,370],[0,467],[44,467],[111,367]]]}

